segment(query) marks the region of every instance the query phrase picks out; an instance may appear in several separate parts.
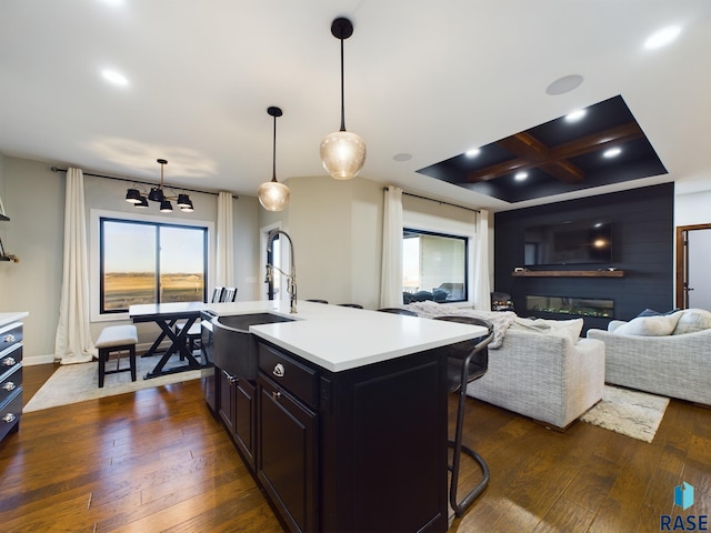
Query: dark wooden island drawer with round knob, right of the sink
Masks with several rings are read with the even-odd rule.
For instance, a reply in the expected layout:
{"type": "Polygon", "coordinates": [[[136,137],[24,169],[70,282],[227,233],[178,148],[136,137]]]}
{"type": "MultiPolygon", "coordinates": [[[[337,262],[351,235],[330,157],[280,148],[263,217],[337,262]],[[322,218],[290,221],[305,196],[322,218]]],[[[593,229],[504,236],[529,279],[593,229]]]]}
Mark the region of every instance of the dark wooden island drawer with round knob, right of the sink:
{"type": "Polygon", "coordinates": [[[314,370],[261,342],[259,370],[307,405],[318,409],[318,375],[314,370]]]}

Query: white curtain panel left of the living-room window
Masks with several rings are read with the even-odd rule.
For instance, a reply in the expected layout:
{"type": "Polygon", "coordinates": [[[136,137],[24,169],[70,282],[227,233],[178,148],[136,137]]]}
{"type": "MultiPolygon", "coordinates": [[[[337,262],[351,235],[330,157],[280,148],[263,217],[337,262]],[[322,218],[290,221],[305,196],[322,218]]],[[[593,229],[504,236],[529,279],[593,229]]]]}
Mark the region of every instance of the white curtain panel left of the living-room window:
{"type": "Polygon", "coordinates": [[[402,305],[402,189],[389,185],[382,221],[380,306],[402,305]]]}

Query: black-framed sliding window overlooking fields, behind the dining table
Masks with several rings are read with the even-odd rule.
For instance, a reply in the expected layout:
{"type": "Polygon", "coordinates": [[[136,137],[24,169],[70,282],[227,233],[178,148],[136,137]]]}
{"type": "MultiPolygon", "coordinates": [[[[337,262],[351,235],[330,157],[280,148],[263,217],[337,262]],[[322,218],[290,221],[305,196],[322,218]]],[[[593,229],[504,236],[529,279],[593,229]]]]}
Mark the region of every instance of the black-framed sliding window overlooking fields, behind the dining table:
{"type": "Polygon", "coordinates": [[[99,219],[101,313],[129,305],[204,301],[208,229],[99,219]]]}

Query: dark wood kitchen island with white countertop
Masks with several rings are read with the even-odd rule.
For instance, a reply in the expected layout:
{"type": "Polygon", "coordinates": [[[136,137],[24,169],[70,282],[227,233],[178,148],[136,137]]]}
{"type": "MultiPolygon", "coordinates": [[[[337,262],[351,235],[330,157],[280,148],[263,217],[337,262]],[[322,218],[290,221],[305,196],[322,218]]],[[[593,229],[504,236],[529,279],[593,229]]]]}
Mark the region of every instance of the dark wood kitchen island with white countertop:
{"type": "Polygon", "coordinates": [[[254,313],[292,319],[251,325],[256,376],[216,360],[211,393],[289,530],[447,530],[441,349],[481,336],[483,328],[301,301],[297,314],[280,301],[206,311],[213,322],[254,313]]]}

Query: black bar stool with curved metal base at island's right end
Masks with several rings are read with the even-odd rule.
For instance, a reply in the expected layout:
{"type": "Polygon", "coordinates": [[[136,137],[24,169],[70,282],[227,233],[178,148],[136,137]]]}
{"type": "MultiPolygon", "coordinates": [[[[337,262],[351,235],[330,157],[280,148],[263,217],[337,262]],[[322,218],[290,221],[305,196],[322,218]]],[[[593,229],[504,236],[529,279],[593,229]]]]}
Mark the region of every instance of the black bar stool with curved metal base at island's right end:
{"type": "Polygon", "coordinates": [[[467,384],[471,381],[478,380],[487,373],[487,369],[489,366],[488,345],[493,339],[493,324],[473,316],[435,316],[434,320],[483,325],[488,330],[484,336],[472,339],[470,341],[458,342],[457,344],[444,348],[447,351],[447,383],[449,391],[459,393],[454,440],[448,441],[450,447],[453,449],[452,464],[449,465],[449,470],[452,472],[449,487],[449,501],[454,514],[457,516],[461,516],[489,484],[489,466],[481,455],[474,452],[471,447],[462,444],[462,433],[464,430],[467,384]],[[457,485],[459,483],[462,453],[465,453],[477,462],[481,470],[482,479],[464,495],[464,497],[458,501],[457,485]]]}

